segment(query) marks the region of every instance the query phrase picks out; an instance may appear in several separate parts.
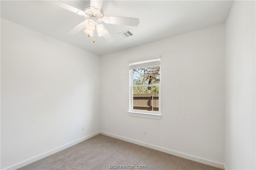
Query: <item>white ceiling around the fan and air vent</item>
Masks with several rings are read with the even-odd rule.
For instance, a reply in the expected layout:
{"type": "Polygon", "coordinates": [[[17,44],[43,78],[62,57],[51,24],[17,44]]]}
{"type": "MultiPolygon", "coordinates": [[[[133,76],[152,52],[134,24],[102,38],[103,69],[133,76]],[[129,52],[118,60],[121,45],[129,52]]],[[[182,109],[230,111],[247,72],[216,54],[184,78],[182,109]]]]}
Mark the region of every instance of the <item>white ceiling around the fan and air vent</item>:
{"type": "MultiPolygon", "coordinates": [[[[84,10],[90,1],[64,1],[84,10]]],[[[138,27],[104,23],[114,42],[104,37],[88,37],[83,31],[76,35],[65,32],[85,20],[73,12],[48,1],[1,0],[1,18],[54,37],[97,55],[128,49],[160,39],[224,23],[233,1],[168,1],[168,0],[104,0],[106,16],[139,18],[138,27]],[[134,36],[123,38],[117,33],[130,29],[134,36]]]]}

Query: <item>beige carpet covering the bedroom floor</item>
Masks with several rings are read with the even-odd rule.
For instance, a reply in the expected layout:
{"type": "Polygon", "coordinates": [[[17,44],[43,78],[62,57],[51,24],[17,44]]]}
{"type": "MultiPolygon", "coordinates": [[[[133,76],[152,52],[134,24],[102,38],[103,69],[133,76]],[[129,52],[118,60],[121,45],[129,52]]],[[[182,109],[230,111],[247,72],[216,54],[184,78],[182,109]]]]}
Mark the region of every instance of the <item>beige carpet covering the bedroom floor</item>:
{"type": "Polygon", "coordinates": [[[145,165],[148,170],[221,170],[105,135],[92,137],[19,170],[110,170],[110,165],[114,166],[112,169],[118,165],[124,166],[119,169],[145,165]]]}

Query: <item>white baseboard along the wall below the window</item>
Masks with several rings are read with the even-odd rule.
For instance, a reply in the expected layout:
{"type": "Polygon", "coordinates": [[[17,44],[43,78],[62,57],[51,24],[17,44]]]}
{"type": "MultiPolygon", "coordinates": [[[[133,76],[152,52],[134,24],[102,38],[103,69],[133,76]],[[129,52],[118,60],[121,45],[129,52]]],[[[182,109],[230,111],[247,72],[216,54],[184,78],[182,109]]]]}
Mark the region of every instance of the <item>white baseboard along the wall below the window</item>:
{"type": "Polygon", "coordinates": [[[174,150],[158,147],[158,146],[155,146],[155,145],[150,145],[150,144],[144,143],[144,142],[135,141],[133,139],[128,139],[126,137],[121,137],[121,136],[114,135],[114,134],[111,134],[111,133],[107,133],[107,132],[104,132],[104,131],[101,131],[100,133],[102,135],[106,135],[106,136],[109,136],[109,137],[114,137],[116,139],[120,139],[120,140],[123,140],[123,141],[127,141],[127,142],[130,142],[130,143],[141,145],[143,147],[147,147],[147,148],[150,148],[150,149],[159,150],[161,152],[165,152],[165,153],[168,153],[168,154],[172,154],[172,155],[175,155],[175,156],[179,156],[179,157],[182,157],[182,158],[186,158],[186,159],[189,159],[189,160],[200,162],[202,164],[214,166],[216,168],[222,168],[222,169],[225,168],[224,164],[221,164],[221,163],[218,163],[218,162],[214,162],[214,161],[211,161],[211,160],[206,160],[206,159],[203,159],[203,158],[198,158],[196,156],[184,154],[184,153],[181,153],[181,152],[177,152],[177,151],[174,151],[174,150]]]}

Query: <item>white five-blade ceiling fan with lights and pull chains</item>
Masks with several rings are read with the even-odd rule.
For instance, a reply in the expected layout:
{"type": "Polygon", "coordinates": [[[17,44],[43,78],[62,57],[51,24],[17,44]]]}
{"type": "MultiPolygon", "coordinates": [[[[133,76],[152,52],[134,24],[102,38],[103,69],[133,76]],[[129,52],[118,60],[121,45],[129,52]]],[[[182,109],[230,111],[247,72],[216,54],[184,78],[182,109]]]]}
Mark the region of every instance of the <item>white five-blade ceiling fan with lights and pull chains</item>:
{"type": "MultiPolygon", "coordinates": [[[[49,2],[85,17],[84,21],[67,31],[66,33],[68,34],[76,34],[84,29],[84,32],[90,37],[94,36],[94,33],[97,31],[99,37],[103,36],[106,41],[112,42],[114,41],[114,39],[110,35],[106,27],[101,24],[102,21],[105,23],[130,26],[138,26],[138,24],[140,23],[138,18],[105,16],[103,10],[101,9],[103,0],[90,0],[90,7],[85,8],[83,11],[73,6],[70,6],[69,4],[66,4],[65,2],[62,2],[60,0],[51,0],[49,2]]],[[[93,42],[95,42],[94,39],[93,42]]]]}

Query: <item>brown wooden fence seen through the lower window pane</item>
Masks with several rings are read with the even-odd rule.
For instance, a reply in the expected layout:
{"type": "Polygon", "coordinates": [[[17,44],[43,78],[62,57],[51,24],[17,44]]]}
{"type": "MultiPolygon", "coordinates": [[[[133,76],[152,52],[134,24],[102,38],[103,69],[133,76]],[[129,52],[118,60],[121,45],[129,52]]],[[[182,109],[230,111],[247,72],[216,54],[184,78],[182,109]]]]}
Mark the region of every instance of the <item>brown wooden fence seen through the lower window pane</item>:
{"type": "Polygon", "coordinates": [[[159,111],[159,94],[134,94],[133,109],[159,111]]]}

